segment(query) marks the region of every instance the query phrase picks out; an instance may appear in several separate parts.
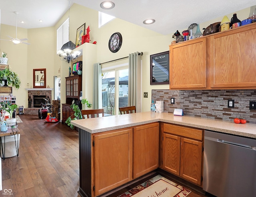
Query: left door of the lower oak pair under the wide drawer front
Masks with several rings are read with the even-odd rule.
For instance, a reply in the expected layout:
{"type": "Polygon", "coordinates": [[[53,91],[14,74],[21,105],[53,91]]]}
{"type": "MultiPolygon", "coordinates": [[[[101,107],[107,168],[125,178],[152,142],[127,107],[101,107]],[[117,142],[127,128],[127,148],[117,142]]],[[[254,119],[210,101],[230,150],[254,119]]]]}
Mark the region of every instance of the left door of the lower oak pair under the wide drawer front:
{"type": "Polygon", "coordinates": [[[163,134],[163,169],[180,175],[180,137],[163,134]]]}

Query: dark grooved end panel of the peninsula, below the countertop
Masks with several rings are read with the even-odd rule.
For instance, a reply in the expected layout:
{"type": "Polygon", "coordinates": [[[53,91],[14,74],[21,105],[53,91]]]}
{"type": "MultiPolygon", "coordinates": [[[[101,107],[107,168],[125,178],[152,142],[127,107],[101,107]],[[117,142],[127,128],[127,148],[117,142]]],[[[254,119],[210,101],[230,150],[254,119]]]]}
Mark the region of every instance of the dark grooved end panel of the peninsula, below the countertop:
{"type": "Polygon", "coordinates": [[[91,134],[79,129],[79,191],[82,197],[91,197],[91,134]]]}

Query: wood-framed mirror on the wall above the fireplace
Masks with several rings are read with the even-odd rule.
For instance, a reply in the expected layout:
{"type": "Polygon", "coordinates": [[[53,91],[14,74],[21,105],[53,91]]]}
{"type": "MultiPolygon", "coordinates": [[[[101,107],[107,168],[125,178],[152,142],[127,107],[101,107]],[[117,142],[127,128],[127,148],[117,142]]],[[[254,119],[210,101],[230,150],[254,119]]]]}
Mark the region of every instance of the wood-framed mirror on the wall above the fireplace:
{"type": "Polygon", "coordinates": [[[33,69],[33,87],[46,88],[46,69],[33,69]]]}

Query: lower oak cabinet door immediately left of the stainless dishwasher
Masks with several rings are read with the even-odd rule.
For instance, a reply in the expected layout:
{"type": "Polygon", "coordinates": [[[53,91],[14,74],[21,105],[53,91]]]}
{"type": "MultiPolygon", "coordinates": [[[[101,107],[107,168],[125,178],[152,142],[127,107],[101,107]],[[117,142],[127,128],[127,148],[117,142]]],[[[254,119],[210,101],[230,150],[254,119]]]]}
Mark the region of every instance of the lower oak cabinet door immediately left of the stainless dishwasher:
{"type": "Polygon", "coordinates": [[[180,176],[201,185],[202,142],[181,138],[180,176]]]}

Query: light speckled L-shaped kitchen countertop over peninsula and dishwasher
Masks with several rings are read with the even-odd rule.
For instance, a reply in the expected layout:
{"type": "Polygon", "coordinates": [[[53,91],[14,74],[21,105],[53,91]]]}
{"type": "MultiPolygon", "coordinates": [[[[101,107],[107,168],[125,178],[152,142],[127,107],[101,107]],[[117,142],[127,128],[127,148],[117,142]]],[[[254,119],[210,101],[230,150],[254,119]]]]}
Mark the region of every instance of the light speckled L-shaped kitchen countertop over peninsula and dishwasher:
{"type": "Polygon", "coordinates": [[[194,116],[174,116],[171,113],[141,112],[72,120],[71,123],[74,126],[93,134],[158,121],[256,138],[256,124],[235,124],[233,121],[215,120],[194,116]]]}

